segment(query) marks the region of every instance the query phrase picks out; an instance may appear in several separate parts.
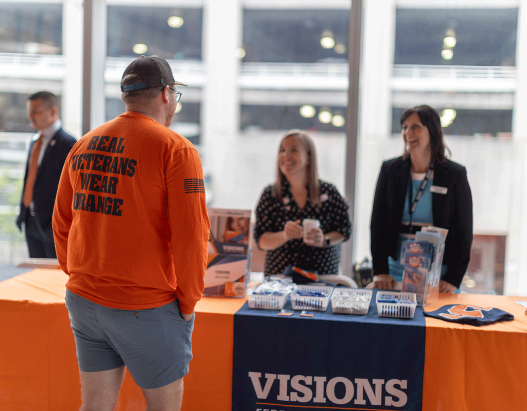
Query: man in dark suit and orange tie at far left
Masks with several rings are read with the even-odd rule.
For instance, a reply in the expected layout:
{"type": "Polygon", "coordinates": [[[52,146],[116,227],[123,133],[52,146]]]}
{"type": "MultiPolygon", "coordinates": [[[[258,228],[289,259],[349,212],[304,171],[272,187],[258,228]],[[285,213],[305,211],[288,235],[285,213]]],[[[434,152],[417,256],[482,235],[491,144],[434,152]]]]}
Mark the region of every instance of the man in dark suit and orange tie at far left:
{"type": "Polygon", "coordinates": [[[27,99],[27,118],[38,131],[27,157],[20,214],[16,225],[24,223],[31,258],[56,258],[51,217],[66,156],[76,140],[62,129],[58,98],[39,91],[27,99]]]}

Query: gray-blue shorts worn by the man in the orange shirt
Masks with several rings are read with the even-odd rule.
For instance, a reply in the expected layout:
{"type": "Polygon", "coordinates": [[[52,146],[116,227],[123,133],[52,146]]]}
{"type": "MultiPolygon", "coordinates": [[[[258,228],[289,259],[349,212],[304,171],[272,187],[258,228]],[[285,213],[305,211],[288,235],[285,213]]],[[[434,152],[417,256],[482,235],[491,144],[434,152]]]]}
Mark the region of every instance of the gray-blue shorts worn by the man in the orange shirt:
{"type": "Polygon", "coordinates": [[[108,308],[66,289],[66,308],[81,371],[123,365],[141,388],[159,388],[189,372],[194,317],[181,318],[179,302],[145,310],[108,308]]]}

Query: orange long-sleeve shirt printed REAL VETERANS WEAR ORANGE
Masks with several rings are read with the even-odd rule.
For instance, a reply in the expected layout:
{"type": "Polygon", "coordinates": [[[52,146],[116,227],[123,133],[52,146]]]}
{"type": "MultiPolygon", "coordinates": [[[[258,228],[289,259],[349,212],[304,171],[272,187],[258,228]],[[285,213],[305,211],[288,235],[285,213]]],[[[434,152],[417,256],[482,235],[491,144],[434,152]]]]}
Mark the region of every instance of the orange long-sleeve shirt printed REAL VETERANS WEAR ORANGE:
{"type": "Polygon", "coordinates": [[[153,119],[126,112],[80,139],[62,170],[53,212],[66,288],[118,309],[203,292],[210,222],[199,155],[153,119]]]}

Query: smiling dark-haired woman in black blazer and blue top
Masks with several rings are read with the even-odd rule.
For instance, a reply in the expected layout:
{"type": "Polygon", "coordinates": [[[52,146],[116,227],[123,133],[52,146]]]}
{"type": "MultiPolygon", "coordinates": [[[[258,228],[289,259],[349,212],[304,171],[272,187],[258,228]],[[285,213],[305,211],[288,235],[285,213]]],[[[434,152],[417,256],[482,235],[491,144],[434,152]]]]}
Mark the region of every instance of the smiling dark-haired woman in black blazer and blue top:
{"type": "Polygon", "coordinates": [[[432,107],[407,109],[401,127],[404,153],[383,162],[375,189],[370,224],[374,277],[368,287],[394,289],[396,280],[401,281],[394,276],[402,237],[410,227],[413,233],[420,226],[433,225],[448,229],[440,292],[455,292],[469,265],[472,246],[472,194],[466,169],[446,158],[445,150],[449,154],[450,150],[443,141],[440,116],[432,107]],[[428,181],[409,218],[426,175],[428,181]]]}

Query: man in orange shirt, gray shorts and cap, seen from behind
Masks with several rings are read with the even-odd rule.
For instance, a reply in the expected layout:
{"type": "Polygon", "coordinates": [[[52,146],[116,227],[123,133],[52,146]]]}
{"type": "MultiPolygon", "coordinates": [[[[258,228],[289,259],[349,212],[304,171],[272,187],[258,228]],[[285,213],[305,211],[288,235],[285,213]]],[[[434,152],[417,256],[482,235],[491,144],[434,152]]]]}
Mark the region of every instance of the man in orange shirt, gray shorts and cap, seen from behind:
{"type": "Polygon", "coordinates": [[[168,128],[176,85],[162,58],[133,61],[126,112],[84,135],[62,171],[53,231],[83,410],[113,410],[125,367],[148,409],[181,406],[210,223],[198,152],[168,128]]]}

